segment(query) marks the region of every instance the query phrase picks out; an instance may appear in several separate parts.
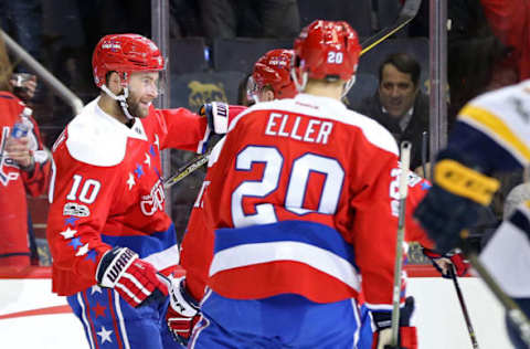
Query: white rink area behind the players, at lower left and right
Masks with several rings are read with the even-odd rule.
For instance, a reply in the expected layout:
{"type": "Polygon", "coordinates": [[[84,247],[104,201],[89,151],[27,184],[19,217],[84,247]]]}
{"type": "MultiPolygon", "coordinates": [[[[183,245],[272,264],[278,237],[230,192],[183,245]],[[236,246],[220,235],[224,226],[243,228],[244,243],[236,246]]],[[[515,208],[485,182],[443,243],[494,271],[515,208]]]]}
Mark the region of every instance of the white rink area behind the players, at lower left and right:
{"type": "MultiPolygon", "coordinates": [[[[477,278],[460,278],[480,349],[511,348],[504,310],[477,278]]],[[[469,335],[451,279],[410,278],[409,293],[416,299],[414,324],[421,349],[471,348],[469,335]]],[[[49,279],[0,279],[2,315],[66,305],[51,293],[49,279]]],[[[71,313],[0,319],[0,348],[88,349],[81,321],[71,313]]]]}

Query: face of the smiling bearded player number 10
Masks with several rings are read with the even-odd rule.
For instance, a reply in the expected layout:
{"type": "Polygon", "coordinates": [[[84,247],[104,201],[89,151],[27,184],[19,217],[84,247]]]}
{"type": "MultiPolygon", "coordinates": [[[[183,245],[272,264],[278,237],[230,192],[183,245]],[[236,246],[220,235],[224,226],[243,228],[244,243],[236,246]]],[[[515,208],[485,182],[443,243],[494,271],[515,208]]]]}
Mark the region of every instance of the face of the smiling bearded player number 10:
{"type": "Polygon", "coordinates": [[[158,97],[158,72],[130,74],[127,104],[132,116],[144,118],[149,114],[152,99],[158,97]]]}

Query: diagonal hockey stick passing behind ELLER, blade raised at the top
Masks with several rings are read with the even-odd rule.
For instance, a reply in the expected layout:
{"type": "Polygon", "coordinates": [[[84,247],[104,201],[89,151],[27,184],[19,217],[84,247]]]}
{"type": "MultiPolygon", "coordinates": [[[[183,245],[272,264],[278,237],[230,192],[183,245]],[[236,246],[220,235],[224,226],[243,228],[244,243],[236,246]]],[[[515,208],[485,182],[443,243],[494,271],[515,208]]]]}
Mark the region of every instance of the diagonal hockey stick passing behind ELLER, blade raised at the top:
{"type": "MultiPolygon", "coordinates": [[[[363,55],[368,51],[372,50],[373,47],[379,45],[381,42],[386,40],[390,35],[395,34],[398,31],[400,31],[402,28],[409,24],[409,22],[412,21],[414,17],[416,17],[421,4],[422,4],[422,0],[406,0],[405,3],[403,4],[403,8],[401,9],[400,14],[398,15],[398,19],[392,25],[379,31],[378,33],[368,38],[361,43],[361,47],[363,49],[361,50],[360,55],[363,55]]],[[[181,168],[177,170],[177,172],[173,176],[171,176],[163,182],[163,188],[168,189],[177,184],[179,181],[188,177],[194,170],[197,170],[198,168],[206,163],[209,155],[210,152],[199,155],[193,159],[191,159],[188,163],[183,165],[181,168]]]]}

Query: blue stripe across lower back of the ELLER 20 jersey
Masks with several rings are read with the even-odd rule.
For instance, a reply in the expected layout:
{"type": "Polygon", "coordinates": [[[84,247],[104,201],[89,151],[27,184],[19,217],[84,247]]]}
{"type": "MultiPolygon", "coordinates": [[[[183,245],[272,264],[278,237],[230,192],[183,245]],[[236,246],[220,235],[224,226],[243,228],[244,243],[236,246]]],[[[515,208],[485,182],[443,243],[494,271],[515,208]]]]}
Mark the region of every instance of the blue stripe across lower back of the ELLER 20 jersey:
{"type": "Polygon", "coordinates": [[[215,231],[215,253],[243,244],[295,241],[327,250],[350,263],[354,252],[342,235],[328,225],[306,221],[282,221],[215,231]]]}

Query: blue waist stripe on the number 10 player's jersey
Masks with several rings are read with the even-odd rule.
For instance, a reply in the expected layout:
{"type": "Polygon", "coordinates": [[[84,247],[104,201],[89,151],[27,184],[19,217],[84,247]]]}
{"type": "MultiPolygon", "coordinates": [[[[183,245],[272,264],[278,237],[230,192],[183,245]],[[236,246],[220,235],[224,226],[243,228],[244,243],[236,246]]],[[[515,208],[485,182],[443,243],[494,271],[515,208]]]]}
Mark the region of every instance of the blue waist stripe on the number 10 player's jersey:
{"type": "Polygon", "coordinates": [[[177,244],[177,234],[174,225],[171,223],[169,229],[163,232],[152,233],[150,235],[121,235],[112,236],[102,234],[102,241],[110,246],[129,247],[140,255],[140,258],[147,257],[156,252],[163,251],[177,244]]]}

